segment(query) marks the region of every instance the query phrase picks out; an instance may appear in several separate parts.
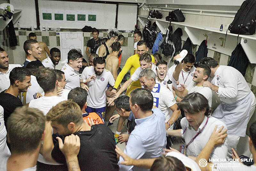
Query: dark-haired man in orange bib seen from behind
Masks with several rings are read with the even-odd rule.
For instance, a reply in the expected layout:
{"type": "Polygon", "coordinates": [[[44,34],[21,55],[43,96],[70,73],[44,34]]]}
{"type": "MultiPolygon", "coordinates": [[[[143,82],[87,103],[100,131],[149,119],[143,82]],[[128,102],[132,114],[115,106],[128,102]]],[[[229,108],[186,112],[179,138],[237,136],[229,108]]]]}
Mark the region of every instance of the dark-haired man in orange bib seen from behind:
{"type": "Polygon", "coordinates": [[[83,119],[89,124],[88,119],[92,119],[94,124],[104,124],[104,120],[102,120],[102,118],[100,117],[100,115],[98,113],[92,112],[92,113],[87,113],[85,112],[85,109],[87,108],[87,96],[88,93],[85,89],[82,89],[80,87],[76,87],[75,89],[70,90],[70,92],[68,93],[68,99],[73,100],[74,102],[77,103],[77,105],[79,105],[81,111],[82,111],[82,115],[83,115],[83,119]]]}

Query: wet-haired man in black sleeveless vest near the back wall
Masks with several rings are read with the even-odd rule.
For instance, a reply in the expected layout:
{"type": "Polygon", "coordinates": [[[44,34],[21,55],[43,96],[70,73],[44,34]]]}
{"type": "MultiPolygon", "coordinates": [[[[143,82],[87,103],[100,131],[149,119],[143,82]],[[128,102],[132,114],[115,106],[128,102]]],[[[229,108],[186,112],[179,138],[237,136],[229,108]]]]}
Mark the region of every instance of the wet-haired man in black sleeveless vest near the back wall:
{"type": "Polygon", "coordinates": [[[99,57],[102,57],[104,59],[107,58],[107,56],[112,53],[111,50],[111,45],[116,42],[118,37],[118,34],[115,31],[110,31],[108,33],[108,40],[106,43],[103,43],[102,45],[100,45],[100,49],[99,49],[99,57]]]}

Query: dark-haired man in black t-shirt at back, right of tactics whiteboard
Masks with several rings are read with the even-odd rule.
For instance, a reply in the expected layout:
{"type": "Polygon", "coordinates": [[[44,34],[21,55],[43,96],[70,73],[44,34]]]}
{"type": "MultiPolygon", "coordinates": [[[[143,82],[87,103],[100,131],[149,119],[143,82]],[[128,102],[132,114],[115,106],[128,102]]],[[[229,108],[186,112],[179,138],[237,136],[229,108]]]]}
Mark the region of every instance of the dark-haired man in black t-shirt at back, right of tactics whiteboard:
{"type": "Polygon", "coordinates": [[[92,36],[93,38],[88,40],[87,45],[86,45],[86,55],[88,58],[92,53],[96,53],[98,47],[102,44],[102,39],[100,39],[99,36],[99,30],[96,28],[92,29],[92,36]],[[89,49],[91,48],[91,53],[89,53],[89,49]]]}

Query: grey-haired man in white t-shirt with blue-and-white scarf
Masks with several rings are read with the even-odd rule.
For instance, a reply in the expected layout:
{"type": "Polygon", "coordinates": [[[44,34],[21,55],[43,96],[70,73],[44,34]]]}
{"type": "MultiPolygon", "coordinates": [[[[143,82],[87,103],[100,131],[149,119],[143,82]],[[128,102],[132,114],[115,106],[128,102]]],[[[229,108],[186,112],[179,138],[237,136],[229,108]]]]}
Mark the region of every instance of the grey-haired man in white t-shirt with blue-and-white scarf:
{"type": "Polygon", "coordinates": [[[140,72],[140,84],[151,91],[154,105],[165,114],[165,128],[173,129],[173,123],[180,117],[180,109],[173,97],[172,91],[156,83],[155,73],[151,69],[140,72]]]}

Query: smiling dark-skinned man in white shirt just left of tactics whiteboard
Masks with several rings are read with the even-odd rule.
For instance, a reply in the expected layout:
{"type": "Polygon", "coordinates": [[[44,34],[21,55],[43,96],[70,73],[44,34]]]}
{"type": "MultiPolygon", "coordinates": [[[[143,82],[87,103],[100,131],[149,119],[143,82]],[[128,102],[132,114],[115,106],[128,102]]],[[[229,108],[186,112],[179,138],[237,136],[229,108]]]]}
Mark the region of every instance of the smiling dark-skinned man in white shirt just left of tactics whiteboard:
{"type": "Polygon", "coordinates": [[[58,48],[52,48],[48,58],[44,59],[42,64],[46,68],[55,69],[55,66],[60,62],[60,50],[58,48]]]}

